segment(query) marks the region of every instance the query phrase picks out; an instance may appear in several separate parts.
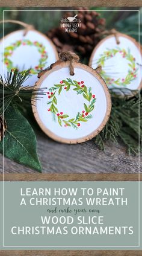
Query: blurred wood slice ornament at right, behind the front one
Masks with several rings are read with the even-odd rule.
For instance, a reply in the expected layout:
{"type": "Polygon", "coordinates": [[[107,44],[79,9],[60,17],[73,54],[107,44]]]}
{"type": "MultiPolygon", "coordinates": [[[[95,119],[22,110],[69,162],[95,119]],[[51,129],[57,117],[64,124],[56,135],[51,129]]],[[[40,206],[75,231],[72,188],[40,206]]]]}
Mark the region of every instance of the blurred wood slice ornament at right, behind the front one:
{"type": "Polygon", "coordinates": [[[141,88],[142,55],[132,37],[116,32],[101,40],[91,54],[89,66],[102,66],[100,75],[111,88],[141,88]]]}

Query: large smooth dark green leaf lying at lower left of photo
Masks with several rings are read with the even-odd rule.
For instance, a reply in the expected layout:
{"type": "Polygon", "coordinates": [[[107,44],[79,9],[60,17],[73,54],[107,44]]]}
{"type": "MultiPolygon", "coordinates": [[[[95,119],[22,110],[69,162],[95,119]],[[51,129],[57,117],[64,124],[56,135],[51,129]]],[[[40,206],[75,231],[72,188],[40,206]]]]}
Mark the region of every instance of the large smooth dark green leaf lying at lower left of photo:
{"type": "MultiPolygon", "coordinates": [[[[36,135],[25,117],[19,110],[9,106],[5,111],[7,130],[4,137],[4,156],[19,164],[42,171],[37,156],[36,135]]],[[[2,153],[3,142],[0,142],[2,153]]]]}

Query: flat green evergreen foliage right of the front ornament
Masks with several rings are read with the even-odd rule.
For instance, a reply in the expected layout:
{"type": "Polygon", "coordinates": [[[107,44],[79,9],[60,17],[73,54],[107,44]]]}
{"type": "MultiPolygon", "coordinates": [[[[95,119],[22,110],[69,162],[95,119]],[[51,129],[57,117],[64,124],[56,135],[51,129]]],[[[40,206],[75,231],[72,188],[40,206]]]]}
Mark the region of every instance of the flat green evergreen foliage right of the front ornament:
{"type": "MultiPolygon", "coordinates": [[[[141,136],[142,132],[140,117],[142,94],[140,92],[140,97],[137,94],[129,98],[127,93],[126,97],[119,98],[114,94],[114,90],[110,92],[112,97],[110,120],[99,135],[94,138],[94,142],[99,149],[104,150],[107,140],[117,143],[118,139],[120,139],[125,144],[129,154],[137,155],[139,150],[139,134],[141,136]]],[[[131,91],[130,93],[132,95],[131,91]]]]}

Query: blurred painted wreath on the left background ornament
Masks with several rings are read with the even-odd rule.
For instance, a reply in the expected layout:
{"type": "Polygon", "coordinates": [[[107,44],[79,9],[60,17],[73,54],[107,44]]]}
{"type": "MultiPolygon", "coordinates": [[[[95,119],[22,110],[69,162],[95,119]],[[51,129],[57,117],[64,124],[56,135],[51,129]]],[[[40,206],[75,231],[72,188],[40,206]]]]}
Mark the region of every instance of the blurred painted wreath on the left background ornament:
{"type": "Polygon", "coordinates": [[[10,46],[5,47],[5,49],[4,49],[4,64],[7,66],[9,71],[11,69],[14,69],[13,62],[10,60],[10,56],[12,56],[14,50],[16,50],[21,45],[23,45],[23,46],[29,45],[29,46],[37,47],[37,50],[40,53],[39,64],[37,66],[35,66],[34,68],[30,69],[31,74],[37,74],[44,68],[44,66],[46,65],[46,61],[48,59],[48,54],[45,50],[45,46],[42,43],[39,43],[37,41],[31,42],[28,39],[17,40],[16,42],[12,43],[10,46]]]}

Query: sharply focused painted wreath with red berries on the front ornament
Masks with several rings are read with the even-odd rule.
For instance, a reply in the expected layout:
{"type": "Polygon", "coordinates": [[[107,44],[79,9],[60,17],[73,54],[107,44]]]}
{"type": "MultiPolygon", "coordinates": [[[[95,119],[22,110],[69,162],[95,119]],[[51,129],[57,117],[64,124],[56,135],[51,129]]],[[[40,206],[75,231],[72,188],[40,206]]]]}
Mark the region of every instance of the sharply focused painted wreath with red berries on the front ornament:
{"type": "Polygon", "coordinates": [[[50,105],[48,111],[51,112],[54,116],[54,121],[58,119],[58,124],[64,127],[73,127],[74,129],[78,129],[81,126],[81,122],[87,122],[93,116],[89,114],[94,109],[94,103],[96,101],[96,97],[91,92],[91,87],[87,88],[84,85],[84,81],[77,82],[70,78],[66,78],[66,80],[60,81],[60,84],[54,85],[53,87],[49,88],[47,92],[48,98],[48,105],[50,105]],[[78,112],[76,117],[70,118],[69,115],[60,112],[57,108],[57,97],[55,96],[58,92],[58,95],[61,94],[62,89],[69,91],[70,87],[73,86],[73,91],[76,91],[77,94],[82,94],[85,100],[88,101],[88,104],[84,103],[84,109],[82,112],[78,112]]]}

